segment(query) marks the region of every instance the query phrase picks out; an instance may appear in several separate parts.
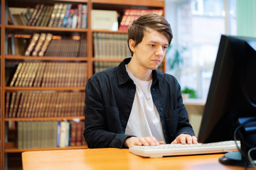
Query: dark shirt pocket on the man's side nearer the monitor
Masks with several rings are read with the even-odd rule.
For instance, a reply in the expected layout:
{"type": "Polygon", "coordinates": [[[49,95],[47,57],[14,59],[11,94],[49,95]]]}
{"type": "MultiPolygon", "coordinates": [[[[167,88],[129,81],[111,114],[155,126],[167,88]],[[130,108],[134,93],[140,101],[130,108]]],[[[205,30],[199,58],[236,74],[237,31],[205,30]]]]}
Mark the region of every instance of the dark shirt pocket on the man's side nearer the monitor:
{"type": "Polygon", "coordinates": [[[171,135],[171,138],[175,138],[178,128],[178,109],[167,112],[165,117],[169,134],[171,135]]]}

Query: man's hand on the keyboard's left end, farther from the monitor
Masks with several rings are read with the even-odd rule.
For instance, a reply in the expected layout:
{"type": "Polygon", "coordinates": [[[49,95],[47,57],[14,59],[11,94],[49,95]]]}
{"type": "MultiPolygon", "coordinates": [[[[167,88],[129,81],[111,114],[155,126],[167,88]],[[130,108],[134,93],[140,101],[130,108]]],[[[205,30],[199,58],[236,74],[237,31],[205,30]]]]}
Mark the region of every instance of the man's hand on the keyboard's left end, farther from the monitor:
{"type": "Polygon", "coordinates": [[[156,137],[129,137],[124,141],[127,147],[133,147],[134,145],[139,146],[157,146],[164,144],[164,141],[157,141],[156,137]]]}

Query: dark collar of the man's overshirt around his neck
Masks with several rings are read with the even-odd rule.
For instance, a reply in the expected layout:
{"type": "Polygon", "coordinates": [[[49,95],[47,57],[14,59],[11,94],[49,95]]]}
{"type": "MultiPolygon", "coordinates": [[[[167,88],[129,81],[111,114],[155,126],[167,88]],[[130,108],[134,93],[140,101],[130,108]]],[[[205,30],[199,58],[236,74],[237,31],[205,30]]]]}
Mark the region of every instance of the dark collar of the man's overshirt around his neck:
{"type": "MultiPolygon", "coordinates": [[[[127,81],[132,80],[125,69],[125,64],[128,64],[131,61],[131,59],[131,57],[124,59],[117,67],[117,79],[119,85],[125,84],[127,81]]],[[[152,70],[152,86],[158,83],[157,74],[158,73],[156,72],[156,70],[152,70]]]]}

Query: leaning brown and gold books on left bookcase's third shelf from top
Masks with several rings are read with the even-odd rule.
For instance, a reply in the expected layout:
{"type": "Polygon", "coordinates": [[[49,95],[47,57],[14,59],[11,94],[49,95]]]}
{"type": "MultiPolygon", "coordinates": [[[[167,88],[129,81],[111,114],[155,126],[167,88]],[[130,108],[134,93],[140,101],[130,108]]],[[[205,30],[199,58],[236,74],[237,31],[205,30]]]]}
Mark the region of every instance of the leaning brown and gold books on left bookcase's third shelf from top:
{"type": "Polygon", "coordinates": [[[20,62],[9,86],[85,86],[86,62],[20,62]]]}

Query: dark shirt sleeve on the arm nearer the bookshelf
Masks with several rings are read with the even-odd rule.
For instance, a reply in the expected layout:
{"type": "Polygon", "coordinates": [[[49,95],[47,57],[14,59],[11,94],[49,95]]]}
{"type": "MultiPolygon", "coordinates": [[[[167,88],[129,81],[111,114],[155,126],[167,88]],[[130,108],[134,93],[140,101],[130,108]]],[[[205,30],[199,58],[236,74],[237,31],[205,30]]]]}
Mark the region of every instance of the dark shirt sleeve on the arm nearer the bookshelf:
{"type": "Polygon", "coordinates": [[[85,141],[89,148],[123,148],[124,140],[131,135],[109,132],[107,115],[99,84],[89,79],[85,87],[85,141]]]}

